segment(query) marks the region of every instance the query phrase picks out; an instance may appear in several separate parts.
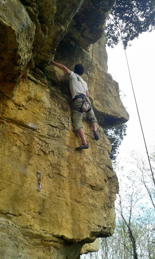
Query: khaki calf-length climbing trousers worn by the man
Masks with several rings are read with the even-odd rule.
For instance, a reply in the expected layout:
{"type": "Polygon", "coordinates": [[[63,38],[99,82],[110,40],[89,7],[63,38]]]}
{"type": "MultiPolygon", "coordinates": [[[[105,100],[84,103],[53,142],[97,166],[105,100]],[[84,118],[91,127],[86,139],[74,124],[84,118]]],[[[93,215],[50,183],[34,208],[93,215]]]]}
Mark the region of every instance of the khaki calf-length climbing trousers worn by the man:
{"type": "MultiPolygon", "coordinates": [[[[87,98],[87,99],[90,103],[89,98],[87,98]]],[[[73,104],[74,104],[74,107],[76,107],[76,108],[81,108],[81,106],[82,106],[81,100],[78,100],[78,99],[76,101],[74,101],[73,104]]],[[[88,109],[89,108],[90,108],[90,105],[89,105],[88,109]]],[[[97,119],[94,115],[94,111],[92,108],[88,113],[86,112],[86,115],[87,115],[88,119],[91,121],[91,123],[97,122],[97,119]]],[[[83,116],[83,113],[81,113],[80,111],[73,110],[72,120],[73,120],[74,132],[78,131],[79,129],[82,129],[82,116],[83,116]]]]}

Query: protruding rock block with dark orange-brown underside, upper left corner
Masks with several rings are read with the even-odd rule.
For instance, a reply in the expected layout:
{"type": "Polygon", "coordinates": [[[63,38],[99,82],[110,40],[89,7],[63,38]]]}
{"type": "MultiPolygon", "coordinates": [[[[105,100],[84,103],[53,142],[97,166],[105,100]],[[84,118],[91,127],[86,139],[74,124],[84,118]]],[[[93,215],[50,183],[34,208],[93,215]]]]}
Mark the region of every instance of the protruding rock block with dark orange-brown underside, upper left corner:
{"type": "Polygon", "coordinates": [[[19,0],[0,1],[0,90],[11,97],[31,67],[34,31],[35,25],[19,0]]]}

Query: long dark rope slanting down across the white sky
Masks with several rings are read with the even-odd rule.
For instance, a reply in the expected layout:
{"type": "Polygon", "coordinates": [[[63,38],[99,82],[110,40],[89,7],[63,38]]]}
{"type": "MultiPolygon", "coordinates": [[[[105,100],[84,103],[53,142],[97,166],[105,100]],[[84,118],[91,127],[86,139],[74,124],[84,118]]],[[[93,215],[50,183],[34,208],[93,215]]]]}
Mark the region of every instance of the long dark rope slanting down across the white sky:
{"type": "MultiPolygon", "coordinates": [[[[117,14],[116,5],[115,5],[115,11],[116,11],[116,14],[117,14]]],[[[122,38],[123,47],[124,47],[124,51],[125,51],[125,45],[124,45],[124,41],[123,41],[123,36],[122,36],[121,26],[120,26],[120,23],[119,23],[118,14],[117,14],[117,19],[118,19],[119,29],[120,29],[120,32],[121,32],[121,38],[122,38]]],[[[126,56],[126,60],[127,60],[126,51],[125,51],[125,56],[126,56]]],[[[130,68],[129,68],[128,60],[127,60],[127,66],[128,66],[129,75],[130,75],[130,68]]],[[[131,75],[130,75],[130,80],[131,80],[131,84],[132,84],[131,75]]],[[[134,93],[134,87],[133,87],[133,84],[132,84],[132,90],[133,90],[133,93],[134,93]]],[[[134,98],[135,98],[135,102],[136,102],[135,93],[134,93],[134,98]]],[[[145,137],[144,137],[144,133],[143,133],[143,128],[142,128],[142,124],[141,124],[141,120],[140,120],[140,115],[139,115],[139,111],[138,111],[137,102],[136,102],[136,108],[137,108],[137,112],[138,112],[138,117],[139,117],[139,121],[140,121],[140,126],[141,126],[141,129],[142,129],[142,134],[143,134],[143,138],[144,138],[144,143],[145,143],[145,147],[146,147],[146,152],[147,152],[147,155],[148,155],[148,149],[147,149],[147,146],[146,146],[146,141],[145,141],[145,137]]],[[[149,161],[149,164],[150,164],[150,169],[151,169],[151,173],[152,173],[152,178],[153,178],[154,185],[155,185],[155,180],[154,180],[154,175],[153,175],[153,172],[152,172],[152,167],[151,167],[151,163],[150,163],[149,155],[148,155],[148,161],[149,161]]]]}

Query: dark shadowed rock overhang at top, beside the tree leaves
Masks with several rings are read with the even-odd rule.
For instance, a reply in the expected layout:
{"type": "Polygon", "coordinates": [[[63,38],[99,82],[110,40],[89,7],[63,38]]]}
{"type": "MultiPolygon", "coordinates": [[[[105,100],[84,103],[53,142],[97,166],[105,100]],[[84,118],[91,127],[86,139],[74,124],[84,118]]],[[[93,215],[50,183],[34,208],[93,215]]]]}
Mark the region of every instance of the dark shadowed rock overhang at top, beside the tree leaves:
{"type": "Polygon", "coordinates": [[[107,17],[114,3],[115,0],[83,1],[79,12],[68,26],[67,36],[74,39],[84,49],[96,43],[103,35],[107,17]]]}

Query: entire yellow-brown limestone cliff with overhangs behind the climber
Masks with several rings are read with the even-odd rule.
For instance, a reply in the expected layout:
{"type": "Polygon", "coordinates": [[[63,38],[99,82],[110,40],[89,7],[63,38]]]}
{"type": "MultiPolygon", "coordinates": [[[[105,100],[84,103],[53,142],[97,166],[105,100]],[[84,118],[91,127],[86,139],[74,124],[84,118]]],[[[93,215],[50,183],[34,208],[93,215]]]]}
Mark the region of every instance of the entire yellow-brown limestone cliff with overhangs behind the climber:
{"type": "Polygon", "coordinates": [[[75,259],[113,234],[118,182],[102,126],[128,120],[107,73],[103,32],[114,2],[0,0],[0,258],[75,259]],[[100,140],[84,116],[90,148],[76,152],[68,81],[50,62],[83,63],[88,81],[92,43],[100,140]]]}

